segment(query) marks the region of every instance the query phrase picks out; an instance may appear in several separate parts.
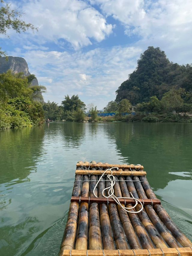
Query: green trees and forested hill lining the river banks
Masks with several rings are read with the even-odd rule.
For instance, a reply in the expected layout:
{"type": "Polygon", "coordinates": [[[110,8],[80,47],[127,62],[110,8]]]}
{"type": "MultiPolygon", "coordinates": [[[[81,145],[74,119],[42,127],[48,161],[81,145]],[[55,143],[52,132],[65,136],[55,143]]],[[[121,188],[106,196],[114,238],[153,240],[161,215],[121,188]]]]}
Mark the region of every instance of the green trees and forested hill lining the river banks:
{"type": "Polygon", "coordinates": [[[49,119],[70,122],[192,122],[192,65],[170,62],[158,47],[148,47],[136,70],[103,110],[78,95],[61,105],[43,101],[45,86],[32,86],[35,75],[0,74],[0,129],[40,125],[49,119]],[[133,112],[133,108],[135,112],[133,112]],[[102,116],[103,115],[103,116],[102,116]],[[107,116],[108,115],[108,116],[107,116]]]}

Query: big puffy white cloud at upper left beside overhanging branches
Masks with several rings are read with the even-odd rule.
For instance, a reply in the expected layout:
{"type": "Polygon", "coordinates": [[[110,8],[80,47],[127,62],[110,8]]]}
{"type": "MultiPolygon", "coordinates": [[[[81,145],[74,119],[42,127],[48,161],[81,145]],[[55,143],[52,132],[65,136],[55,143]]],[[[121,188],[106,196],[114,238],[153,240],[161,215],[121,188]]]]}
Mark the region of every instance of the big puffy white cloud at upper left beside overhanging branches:
{"type": "Polygon", "coordinates": [[[22,2],[25,20],[38,27],[33,40],[52,41],[60,46],[67,40],[75,49],[100,42],[110,35],[112,25],[88,3],[78,0],[22,2]]]}

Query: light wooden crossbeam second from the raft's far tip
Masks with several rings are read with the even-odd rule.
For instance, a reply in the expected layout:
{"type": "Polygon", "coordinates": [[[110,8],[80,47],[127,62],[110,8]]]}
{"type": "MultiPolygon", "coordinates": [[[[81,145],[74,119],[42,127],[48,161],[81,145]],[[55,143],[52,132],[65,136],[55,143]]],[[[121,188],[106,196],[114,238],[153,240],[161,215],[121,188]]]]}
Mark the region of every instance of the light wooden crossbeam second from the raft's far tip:
{"type": "MultiPolygon", "coordinates": [[[[113,175],[124,175],[124,176],[146,176],[146,172],[144,171],[122,171],[122,170],[118,170],[118,171],[113,171],[113,175]]],[[[102,173],[104,173],[104,170],[76,170],[75,174],[95,174],[95,175],[101,175],[102,173]]],[[[108,170],[106,171],[106,175],[110,174],[111,171],[108,170]]]]}

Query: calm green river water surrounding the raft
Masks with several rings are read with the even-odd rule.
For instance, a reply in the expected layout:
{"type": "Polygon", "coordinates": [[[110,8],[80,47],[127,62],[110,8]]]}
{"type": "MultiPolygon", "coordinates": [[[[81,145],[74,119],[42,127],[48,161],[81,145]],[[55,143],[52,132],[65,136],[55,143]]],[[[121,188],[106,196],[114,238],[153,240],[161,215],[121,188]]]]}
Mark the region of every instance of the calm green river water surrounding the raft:
{"type": "Polygon", "coordinates": [[[46,123],[0,131],[0,255],[57,255],[76,163],[142,164],[192,240],[192,124],[46,123]]]}

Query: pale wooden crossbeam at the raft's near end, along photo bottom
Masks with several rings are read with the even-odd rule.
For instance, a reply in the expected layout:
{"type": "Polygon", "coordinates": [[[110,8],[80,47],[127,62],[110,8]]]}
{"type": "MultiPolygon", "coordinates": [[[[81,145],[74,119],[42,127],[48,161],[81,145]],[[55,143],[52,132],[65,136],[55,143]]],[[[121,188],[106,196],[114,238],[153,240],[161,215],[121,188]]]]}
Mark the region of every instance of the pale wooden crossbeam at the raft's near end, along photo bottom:
{"type": "Polygon", "coordinates": [[[139,250],[63,250],[59,256],[192,256],[190,247],[163,248],[163,249],[139,249],[139,250]]]}

